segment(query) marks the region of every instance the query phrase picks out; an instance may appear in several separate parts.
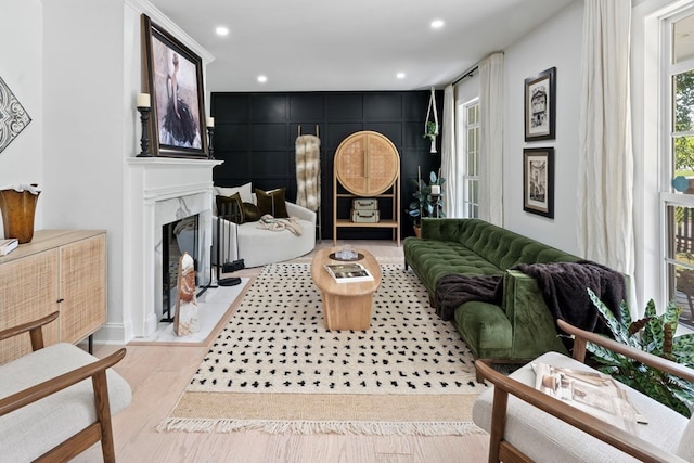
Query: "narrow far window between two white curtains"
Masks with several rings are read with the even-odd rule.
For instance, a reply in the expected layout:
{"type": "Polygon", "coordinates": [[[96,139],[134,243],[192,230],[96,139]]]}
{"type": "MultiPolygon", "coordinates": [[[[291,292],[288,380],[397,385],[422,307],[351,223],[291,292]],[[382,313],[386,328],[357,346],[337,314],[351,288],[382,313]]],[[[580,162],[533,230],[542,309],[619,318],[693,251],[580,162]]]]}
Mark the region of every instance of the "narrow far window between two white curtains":
{"type": "Polygon", "coordinates": [[[479,100],[459,105],[463,217],[479,217],[479,100]]]}

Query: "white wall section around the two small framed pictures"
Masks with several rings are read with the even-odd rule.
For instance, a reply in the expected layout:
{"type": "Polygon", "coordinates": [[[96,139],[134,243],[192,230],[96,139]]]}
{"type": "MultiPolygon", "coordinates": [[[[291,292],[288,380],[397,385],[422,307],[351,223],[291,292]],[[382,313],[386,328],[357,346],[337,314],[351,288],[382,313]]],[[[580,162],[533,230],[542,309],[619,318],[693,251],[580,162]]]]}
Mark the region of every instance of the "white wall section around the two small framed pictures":
{"type": "Polygon", "coordinates": [[[576,206],[583,1],[504,50],[504,227],[578,255],[576,206]],[[524,141],[524,81],[556,67],[556,139],[524,141]],[[523,210],[523,149],[554,147],[554,219],[523,210]]]}

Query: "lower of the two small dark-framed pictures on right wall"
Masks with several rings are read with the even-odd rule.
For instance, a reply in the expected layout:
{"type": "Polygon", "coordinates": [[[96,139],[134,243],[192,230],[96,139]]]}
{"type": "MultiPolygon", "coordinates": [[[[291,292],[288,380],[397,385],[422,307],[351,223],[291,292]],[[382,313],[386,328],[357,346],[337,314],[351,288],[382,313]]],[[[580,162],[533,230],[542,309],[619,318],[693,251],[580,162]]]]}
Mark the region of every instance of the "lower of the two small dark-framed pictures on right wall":
{"type": "Polygon", "coordinates": [[[523,150],[523,210],[554,218],[554,149],[523,150]]]}

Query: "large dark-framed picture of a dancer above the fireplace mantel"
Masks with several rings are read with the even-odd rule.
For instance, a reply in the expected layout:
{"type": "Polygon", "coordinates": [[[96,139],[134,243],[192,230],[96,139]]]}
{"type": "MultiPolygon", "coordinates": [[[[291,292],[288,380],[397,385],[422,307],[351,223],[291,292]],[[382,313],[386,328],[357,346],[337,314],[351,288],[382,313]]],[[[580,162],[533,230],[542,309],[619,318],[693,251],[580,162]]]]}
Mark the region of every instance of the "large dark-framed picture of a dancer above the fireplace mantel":
{"type": "Polygon", "coordinates": [[[153,155],[206,158],[202,59],[145,14],[142,56],[153,155]]]}

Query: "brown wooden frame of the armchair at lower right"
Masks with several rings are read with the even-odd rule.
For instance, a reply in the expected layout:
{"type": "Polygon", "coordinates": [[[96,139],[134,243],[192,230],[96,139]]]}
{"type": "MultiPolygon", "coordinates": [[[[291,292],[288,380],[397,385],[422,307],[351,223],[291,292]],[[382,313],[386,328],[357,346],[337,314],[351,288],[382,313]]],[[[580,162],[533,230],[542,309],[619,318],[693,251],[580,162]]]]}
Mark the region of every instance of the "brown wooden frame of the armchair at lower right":
{"type": "MultiPolygon", "coordinates": [[[[605,336],[580,330],[563,320],[557,320],[557,324],[565,333],[574,336],[574,359],[580,362],[584,362],[586,360],[586,343],[591,342],[606,349],[630,357],[641,363],[694,382],[694,370],[692,369],[648,352],[633,349],[605,336]]],[[[528,386],[497,372],[483,360],[477,360],[475,368],[485,380],[488,380],[494,385],[489,438],[489,462],[503,461],[510,463],[532,461],[514,447],[513,443],[504,439],[509,395],[513,395],[643,462],[665,462],[672,459],[672,454],[654,448],[648,442],[621,428],[548,396],[535,389],[532,386],[528,386]]]]}

